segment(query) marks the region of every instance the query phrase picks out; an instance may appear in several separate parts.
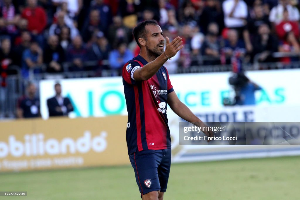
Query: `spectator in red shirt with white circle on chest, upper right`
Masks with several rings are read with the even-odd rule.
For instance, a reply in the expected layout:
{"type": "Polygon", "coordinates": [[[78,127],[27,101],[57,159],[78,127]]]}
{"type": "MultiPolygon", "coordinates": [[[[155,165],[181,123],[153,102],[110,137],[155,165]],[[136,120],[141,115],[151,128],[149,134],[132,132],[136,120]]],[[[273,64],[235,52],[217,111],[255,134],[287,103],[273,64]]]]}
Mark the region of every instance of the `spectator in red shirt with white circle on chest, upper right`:
{"type": "Polygon", "coordinates": [[[282,21],[276,25],[276,33],[280,40],[284,40],[286,34],[292,32],[295,38],[299,38],[299,23],[296,21],[289,20],[289,12],[287,9],[283,11],[283,19],[282,21]]]}

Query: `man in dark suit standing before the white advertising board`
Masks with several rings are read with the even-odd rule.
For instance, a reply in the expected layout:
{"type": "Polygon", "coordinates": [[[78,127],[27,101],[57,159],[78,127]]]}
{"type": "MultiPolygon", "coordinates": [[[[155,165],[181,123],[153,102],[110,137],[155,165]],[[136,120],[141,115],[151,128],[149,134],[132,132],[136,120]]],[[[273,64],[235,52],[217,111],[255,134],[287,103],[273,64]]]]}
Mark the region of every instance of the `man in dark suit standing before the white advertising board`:
{"type": "Polygon", "coordinates": [[[55,88],[55,97],[52,97],[47,100],[47,106],[49,110],[49,117],[53,116],[67,116],[69,112],[73,111],[73,106],[68,97],[61,96],[61,85],[56,83],[55,88]]]}

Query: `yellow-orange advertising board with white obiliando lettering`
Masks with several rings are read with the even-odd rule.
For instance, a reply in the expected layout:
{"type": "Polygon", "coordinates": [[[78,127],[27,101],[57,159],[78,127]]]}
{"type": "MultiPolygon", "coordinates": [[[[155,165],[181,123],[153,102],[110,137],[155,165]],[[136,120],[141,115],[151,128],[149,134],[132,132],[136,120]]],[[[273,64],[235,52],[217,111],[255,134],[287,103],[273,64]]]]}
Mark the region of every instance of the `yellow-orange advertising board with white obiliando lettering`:
{"type": "Polygon", "coordinates": [[[127,116],[0,122],[0,172],[129,164],[127,116]]]}

